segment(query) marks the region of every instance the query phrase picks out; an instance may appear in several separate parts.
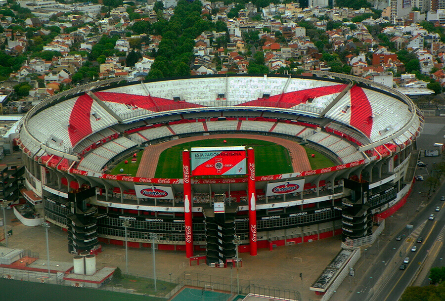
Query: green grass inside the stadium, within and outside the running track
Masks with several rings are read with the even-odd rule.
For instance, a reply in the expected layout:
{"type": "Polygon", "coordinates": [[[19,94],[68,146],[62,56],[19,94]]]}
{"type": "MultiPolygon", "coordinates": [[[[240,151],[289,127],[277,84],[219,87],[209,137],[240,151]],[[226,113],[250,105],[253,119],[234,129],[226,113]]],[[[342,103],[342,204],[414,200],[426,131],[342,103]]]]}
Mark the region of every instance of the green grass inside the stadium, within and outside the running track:
{"type": "MultiPolygon", "coordinates": [[[[291,165],[289,151],[282,145],[259,139],[203,139],[190,141],[170,147],[159,156],[155,177],[157,178],[182,178],[181,151],[192,147],[216,147],[216,146],[246,146],[255,149],[256,175],[269,175],[294,172],[291,165]],[[226,142],[224,143],[223,140],[226,142]]],[[[306,150],[312,169],[320,169],[334,166],[335,163],[323,154],[303,145],[306,150]],[[312,154],[315,156],[312,157],[312,154]]],[[[137,153],[137,161],[131,162],[132,156],[124,159],[112,171],[112,174],[126,173],[136,175],[143,151],[137,153]],[[128,161],[128,164],[124,162],[128,161]],[[124,169],[121,172],[121,169],[124,169]]]]}

